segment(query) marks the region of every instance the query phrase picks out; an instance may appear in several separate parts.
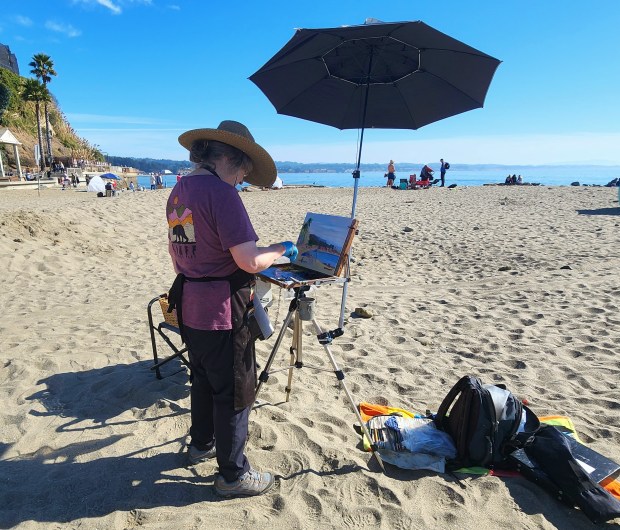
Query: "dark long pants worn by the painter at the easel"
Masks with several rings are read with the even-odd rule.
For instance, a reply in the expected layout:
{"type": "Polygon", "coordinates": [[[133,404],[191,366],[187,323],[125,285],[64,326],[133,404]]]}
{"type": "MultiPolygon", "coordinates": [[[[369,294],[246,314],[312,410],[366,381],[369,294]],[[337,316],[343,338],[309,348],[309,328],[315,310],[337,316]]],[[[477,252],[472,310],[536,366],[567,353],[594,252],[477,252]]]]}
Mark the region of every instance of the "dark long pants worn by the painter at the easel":
{"type": "Polygon", "coordinates": [[[192,367],[192,445],[216,444],[220,474],[228,482],[250,469],[244,454],[251,406],[235,410],[233,333],[185,326],[192,367]]]}

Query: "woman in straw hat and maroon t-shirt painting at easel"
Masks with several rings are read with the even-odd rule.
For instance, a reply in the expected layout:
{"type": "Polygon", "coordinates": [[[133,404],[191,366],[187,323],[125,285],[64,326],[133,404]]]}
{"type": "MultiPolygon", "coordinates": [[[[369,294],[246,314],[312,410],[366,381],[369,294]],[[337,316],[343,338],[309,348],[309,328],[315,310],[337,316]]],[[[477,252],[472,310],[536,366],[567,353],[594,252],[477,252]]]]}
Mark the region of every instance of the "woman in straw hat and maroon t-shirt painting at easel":
{"type": "Polygon", "coordinates": [[[191,464],[217,459],[217,494],[260,495],[274,477],[253,469],[244,452],[256,387],[248,308],[254,274],[281,256],[294,260],[297,247],[291,241],[256,245],[235,186],[246,180],[269,187],[276,167],[245,125],[223,121],[217,129],[187,131],[179,143],[196,167],[176,184],[166,208],[177,273],[169,300],[192,371],[188,459],[191,464]]]}

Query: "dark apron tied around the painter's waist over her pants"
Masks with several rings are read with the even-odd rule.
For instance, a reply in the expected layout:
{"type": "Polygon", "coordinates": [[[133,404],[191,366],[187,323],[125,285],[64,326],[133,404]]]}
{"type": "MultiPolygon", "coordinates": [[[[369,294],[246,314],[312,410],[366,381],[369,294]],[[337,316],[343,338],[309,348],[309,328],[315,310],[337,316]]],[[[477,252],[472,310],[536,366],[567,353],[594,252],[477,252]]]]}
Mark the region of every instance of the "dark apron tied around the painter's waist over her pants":
{"type": "Polygon", "coordinates": [[[248,325],[248,319],[254,310],[252,302],[255,285],[254,275],[241,269],[224,277],[188,278],[183,274],[178,274],[168,294],[168,311],[171,312],[176,308],[181,339],[185,342],[183,312],[181,309],[183,285],[186,281],[209,282],[223,280],[227,280],[230,285],[231,346],[235,387],[234,406],[236,410],[241,410],[254,403],[256,388],[256,354],[254,340],[248,325]]]}

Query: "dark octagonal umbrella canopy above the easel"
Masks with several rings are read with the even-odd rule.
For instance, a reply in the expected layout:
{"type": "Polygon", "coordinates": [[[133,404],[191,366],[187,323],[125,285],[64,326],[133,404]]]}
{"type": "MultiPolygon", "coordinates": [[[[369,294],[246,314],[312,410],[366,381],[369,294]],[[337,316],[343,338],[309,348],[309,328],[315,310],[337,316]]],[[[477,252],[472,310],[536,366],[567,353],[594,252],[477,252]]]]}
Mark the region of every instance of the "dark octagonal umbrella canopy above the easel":
{"type": "Polygon", "coordinates": [[[250,77],[279,114],[418,129],[480,108],[500,61],[423,22],[298,29],[250,77]]]}

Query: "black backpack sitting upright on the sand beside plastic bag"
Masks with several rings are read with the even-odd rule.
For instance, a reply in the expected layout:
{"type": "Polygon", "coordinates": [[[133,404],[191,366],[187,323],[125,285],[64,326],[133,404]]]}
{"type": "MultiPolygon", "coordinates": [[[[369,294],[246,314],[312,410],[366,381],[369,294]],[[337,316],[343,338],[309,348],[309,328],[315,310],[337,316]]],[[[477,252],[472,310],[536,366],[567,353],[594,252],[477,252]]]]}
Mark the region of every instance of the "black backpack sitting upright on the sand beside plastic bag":
{"type": "Polygon", "coordinates": [[[457,456],[447,465],[458,469],[502,464],[512,451],[532,442],[540,421],[505,385],[483,385],[466,375],[444,398],[435,426],[452,437],[457,456]],[[524,411],[525,430],[518,432],[524,411]]]}

